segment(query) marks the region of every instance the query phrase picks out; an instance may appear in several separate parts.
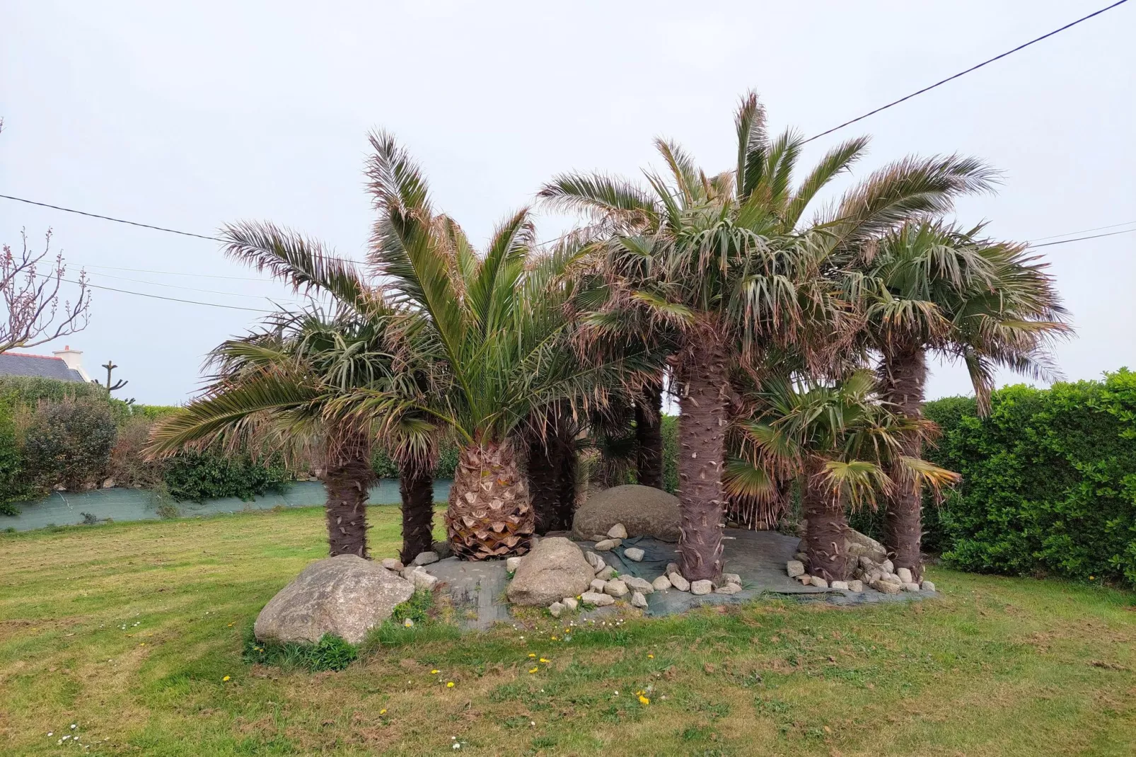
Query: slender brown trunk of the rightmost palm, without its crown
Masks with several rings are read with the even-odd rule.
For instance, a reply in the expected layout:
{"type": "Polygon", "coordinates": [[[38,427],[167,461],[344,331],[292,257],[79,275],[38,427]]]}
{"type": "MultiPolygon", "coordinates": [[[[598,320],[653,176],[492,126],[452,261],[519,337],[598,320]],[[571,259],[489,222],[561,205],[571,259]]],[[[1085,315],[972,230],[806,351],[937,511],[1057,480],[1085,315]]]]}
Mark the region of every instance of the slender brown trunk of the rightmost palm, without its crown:
{"type": "MultiPolygon", "coordinates": [[[[885,356],[884,399],[897,413],[911,418],[922,418],[924,388],[927,383],[927,355],[921,349],[907,349],[885,356]]],[[[900,440],[900,451],[912,458],[922,457],[922,439],[918,433],[905,434],[900,440]]],[[[897,466],[888,466],[888,475],[896,483],[887,499],[884,516],[884,546],[892,554],[895,567],[911,571],[914,581],[922,579],[922,492],[904,484],[905,476],[897,466]]]]}

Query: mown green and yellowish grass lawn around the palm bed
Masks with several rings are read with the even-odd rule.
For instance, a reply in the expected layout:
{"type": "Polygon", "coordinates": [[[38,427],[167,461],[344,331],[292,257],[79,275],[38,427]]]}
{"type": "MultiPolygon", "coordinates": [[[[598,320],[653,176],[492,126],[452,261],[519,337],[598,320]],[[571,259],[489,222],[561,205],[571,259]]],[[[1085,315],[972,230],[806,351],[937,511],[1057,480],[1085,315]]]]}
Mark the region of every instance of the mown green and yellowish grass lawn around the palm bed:
{"type": "MultiPolygon", "coordinates": [[[[398,508],[369,516],[393,555],[398,508]]],[[[340,673],[243,662],[324,550],[316,508],[0,534],[0,754],[1136,754],[1130,593],[935,569],[936,601],[772,599],[570,640],[551,618],[419,626],[340,673]]]]}

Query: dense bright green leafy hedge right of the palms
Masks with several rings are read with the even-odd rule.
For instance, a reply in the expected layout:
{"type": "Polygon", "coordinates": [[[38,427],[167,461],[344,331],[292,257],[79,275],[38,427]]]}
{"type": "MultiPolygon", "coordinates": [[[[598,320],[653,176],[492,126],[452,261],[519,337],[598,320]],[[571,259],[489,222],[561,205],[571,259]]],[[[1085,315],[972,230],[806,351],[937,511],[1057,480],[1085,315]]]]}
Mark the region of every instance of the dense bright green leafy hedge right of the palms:
{"type": "Polygon", "coordinates": [[[1008,386],[988,418],[968,398],[926,413],[943,429],[927,457],[963,476],[925,508],[947,563],[1136,584],[1136,374],[1008,386]]]}

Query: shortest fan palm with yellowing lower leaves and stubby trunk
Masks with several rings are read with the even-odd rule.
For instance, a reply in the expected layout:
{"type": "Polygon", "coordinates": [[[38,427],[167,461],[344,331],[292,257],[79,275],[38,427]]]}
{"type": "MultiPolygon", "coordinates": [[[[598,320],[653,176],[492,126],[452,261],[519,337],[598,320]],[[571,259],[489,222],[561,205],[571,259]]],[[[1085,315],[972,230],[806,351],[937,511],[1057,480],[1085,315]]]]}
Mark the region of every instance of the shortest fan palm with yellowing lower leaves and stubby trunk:
{"type": "Polygon", "coordinates": [[[762,497],[772,482],[799,477],[809,569],[827,581],[844,581],[854,567],[844,550],[847,507],[875,507],[877,494],[924,484],[938,492],[959,477],[903,454],[901,439],[925,438],[934,425],[892,413],[867,371],[835,384],[767,377],[751,399],[751,417],[735,422],[741,443],[729,485],[762,497]]]}

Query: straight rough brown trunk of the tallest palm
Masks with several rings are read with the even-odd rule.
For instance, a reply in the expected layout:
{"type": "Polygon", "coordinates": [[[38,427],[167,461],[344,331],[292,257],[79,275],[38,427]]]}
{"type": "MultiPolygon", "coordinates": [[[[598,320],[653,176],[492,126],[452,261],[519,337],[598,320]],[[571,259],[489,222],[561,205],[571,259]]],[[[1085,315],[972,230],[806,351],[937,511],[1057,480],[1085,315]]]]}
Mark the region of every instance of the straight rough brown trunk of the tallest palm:
{"type": "Polygon", "coordinates": [[[690,581],[721,577],[726,455],[726,355],[710,335],[688,346],[677,372],[678,396],[678,552],[690,581]]]}

